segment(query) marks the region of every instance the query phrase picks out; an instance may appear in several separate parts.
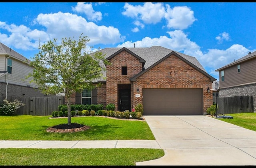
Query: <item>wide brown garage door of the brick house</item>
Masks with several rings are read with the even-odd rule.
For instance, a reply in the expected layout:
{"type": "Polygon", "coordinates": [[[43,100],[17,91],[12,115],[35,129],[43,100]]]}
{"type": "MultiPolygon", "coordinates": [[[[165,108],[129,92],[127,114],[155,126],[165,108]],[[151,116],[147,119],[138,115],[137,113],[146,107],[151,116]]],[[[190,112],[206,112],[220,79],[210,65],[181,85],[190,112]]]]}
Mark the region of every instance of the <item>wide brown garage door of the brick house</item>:
{"type": "Polygon", "coordinates": [[[143,89],[143,115],[203,115],[202,89],[143,89]]]}

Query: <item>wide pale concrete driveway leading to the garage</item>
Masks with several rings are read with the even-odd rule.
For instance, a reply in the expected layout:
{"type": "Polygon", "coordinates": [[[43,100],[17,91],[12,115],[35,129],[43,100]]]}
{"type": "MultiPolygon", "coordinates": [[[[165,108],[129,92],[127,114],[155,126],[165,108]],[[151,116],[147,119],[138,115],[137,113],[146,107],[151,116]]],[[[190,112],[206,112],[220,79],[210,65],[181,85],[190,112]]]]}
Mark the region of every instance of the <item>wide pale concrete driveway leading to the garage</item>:
{"type": "Polygon", "coordinates": [[[145,165],[256,165],[256,131],[206,115],[146,115],[165,155],[145,165]]]}

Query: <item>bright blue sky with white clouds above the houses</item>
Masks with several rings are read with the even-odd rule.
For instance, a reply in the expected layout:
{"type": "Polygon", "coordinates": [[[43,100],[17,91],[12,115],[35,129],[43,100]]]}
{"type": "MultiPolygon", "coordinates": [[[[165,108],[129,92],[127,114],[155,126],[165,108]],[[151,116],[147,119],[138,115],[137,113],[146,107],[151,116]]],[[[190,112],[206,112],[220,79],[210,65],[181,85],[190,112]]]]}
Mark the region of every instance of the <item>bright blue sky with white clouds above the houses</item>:
{"type": "Polygon", "coordinates": [[[255,2],[0,2],[0,42],[28,59],[39,40],[88,36],[92,51],[159,45],[215,70],[256,50],[255,2]]]}

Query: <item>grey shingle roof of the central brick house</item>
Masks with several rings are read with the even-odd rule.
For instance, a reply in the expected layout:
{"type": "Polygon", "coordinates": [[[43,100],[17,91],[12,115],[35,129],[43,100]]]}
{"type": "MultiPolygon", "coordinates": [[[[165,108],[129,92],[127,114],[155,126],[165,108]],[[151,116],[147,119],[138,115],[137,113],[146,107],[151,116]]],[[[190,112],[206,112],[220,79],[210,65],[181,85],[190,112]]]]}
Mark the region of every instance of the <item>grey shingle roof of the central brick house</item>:
{"type": "MultiPolygon", "coordinates": [[[[114,53],[118,52],[123,48],[105,48],[97,52],[101,52],[103,55],[105,55],[105,59],[108,59],[109,57],[113,57],[114,53]]],[[[185,55],[183,53],[179,53],[161,46],[152,46],[148,48],[126,48],[126,49],[130,50],[132,53],[138,55],[138,57],[146,61],[146,63],[144,64],[145,70],[147,70],[147,68],[151,68],[151,66],[158,63],[158,61],[160,61],[161,59],[164,59],[164,57],[168,56],[170,53],[175,52],[176,55],[186,60],[187,63],[190,63],[192,66],[197,68],[203,74],[208,76],[212,81],[216,80],[206,72],[204,67],[198,62],[198,60],[195,57],[185,55]]],[[[104,72],[104,77],[106,77],[106,72],[104,72]]]]}

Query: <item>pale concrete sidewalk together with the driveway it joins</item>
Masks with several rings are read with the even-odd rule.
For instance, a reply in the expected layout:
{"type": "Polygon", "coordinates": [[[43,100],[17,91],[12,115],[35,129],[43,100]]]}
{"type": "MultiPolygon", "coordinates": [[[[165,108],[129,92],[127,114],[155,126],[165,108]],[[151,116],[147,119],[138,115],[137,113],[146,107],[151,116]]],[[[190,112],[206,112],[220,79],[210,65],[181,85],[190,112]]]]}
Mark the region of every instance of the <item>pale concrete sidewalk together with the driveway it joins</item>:
{"type": "Polygon", "coordinates": [[[156,140],[0,141],[0,148],[161,148],[138,166],[256,166],[256,131],[205,115],[144,116],[156,140]]]}

